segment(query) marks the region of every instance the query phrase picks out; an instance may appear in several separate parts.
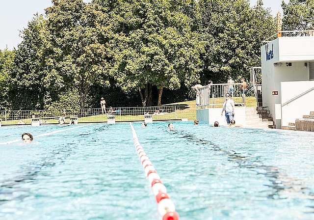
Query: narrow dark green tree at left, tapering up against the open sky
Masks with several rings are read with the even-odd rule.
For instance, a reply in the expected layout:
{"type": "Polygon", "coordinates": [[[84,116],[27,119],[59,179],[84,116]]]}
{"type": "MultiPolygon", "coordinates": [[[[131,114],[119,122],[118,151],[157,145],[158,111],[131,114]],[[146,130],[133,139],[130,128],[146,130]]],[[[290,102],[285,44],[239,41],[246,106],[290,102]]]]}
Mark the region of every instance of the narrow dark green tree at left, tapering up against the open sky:
{"type": "Polygon", "coordinates": [[[23,41],[15,53],[14,68],[10,71],[12,109],[43,109],[51,92],[45,68],[44,49],[48,44],[46,20],[36,15],[21,32],[23,41]],[[48,95],[48,96],[47,96],[48,95]]]}

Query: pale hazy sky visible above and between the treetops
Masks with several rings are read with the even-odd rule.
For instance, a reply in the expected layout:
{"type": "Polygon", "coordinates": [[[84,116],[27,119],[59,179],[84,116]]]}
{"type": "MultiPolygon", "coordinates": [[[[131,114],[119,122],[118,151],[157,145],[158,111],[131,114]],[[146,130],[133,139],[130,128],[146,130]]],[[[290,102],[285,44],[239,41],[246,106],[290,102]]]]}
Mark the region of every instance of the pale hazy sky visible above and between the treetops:
{"type": "MultiPolygon", "coordinates": [[[[83,0],[89,2],[91,0],[83,0]]],[[[257,0],[250,0],[254,6],[257,0]]],[[[272,15],[282,12],[282,0],[263,0],[264,7],[270,7],[272,15]]],[[[288,2],[288,0],[285,0],[288,2]]],[[[0,50],[17,48],[21,43],[20,31],[27,27],[34,14],[44,14],[45,8],[52,6],[51,0],[0,0],[0,50]]]]}

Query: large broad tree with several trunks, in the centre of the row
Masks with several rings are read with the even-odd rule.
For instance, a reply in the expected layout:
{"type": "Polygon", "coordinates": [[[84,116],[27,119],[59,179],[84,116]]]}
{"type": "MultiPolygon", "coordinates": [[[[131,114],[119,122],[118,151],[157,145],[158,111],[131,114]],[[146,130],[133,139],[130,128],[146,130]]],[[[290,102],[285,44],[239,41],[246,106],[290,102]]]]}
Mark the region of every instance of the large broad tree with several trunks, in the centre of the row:
{"type": "Polygon", "coordinates": [[[152,86],[161,105],[163,88],[178,89],[198,80],[202,42],[181,11],[185,1],[121,0],[114,9],[116,81],[138,89],[147,106],[152,86]],[[144,90],[144,94],[143,94],[144,90]]]}

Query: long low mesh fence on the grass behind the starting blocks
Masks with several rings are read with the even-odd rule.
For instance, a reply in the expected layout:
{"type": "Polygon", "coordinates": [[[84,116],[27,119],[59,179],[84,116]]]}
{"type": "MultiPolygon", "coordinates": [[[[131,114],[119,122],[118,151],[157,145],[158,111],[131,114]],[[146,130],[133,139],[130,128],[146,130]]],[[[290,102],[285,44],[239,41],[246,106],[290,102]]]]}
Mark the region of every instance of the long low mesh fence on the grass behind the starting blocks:
{"type": "MultiPolygon", "coordinates": [[[[144,115],[152,115],[154,121],[171,121],[195,118],[195,110],[187,105],[169,105],[160,107],[118,107],[103,114],[101,108],[97,109],[60,109],[60,110],[4,110],[0,111],[2,125],[31,124],[31,118],[40,118],[41,124],[58,124],[61,115],[66,114],[66,120],[77,116],[78,123],[107,122],[108,115],[115,115],[116,122],[144,121],[144,115]]],[[[194,120],[194,119],[193,119],[194,120]]]]}

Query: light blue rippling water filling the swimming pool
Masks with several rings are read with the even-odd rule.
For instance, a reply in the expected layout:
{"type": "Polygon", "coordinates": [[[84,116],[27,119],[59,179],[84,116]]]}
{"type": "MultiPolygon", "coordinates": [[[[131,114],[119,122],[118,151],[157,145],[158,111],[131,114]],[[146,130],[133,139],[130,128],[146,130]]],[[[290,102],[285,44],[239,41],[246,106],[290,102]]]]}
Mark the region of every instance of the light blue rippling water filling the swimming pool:
{"type": "MultiPolygon", "coordinates": [[[[132,125],[181,220],[314,219],[314,133],[132,125]]],[[[160,219],[130,124],[0,131],[0,219],[160,219]]]]}

